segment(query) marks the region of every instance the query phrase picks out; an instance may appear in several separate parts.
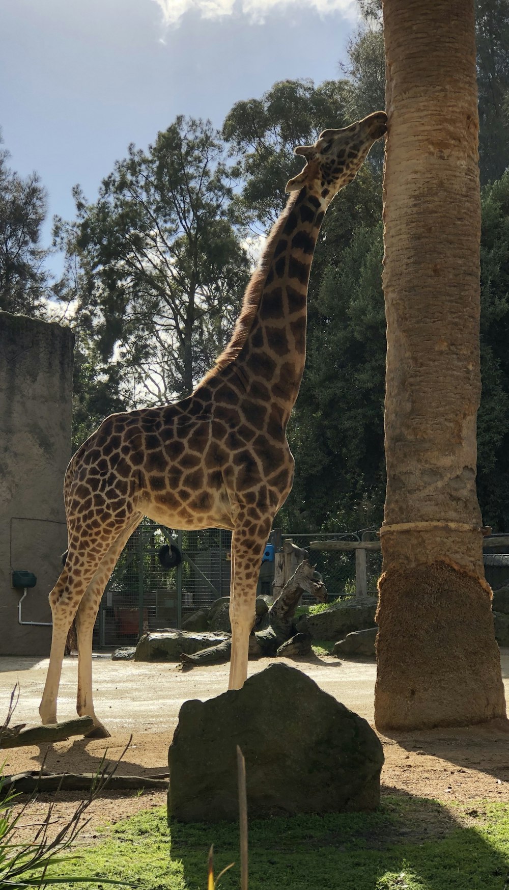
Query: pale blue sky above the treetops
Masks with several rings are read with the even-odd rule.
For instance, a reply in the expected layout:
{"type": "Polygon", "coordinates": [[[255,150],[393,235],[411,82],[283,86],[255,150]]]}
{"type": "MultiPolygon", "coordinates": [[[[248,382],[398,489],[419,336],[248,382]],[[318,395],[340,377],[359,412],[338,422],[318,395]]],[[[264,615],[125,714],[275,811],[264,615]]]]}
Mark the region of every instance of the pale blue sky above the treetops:
{"type": "Polygon", "coordinates": [[[358,21],[355,0],[2,0],[3,147],[48,191],[45,242],[73,185],[96,198],[178,114],[221,127],[277,80],[339,77],[358,21]]]}

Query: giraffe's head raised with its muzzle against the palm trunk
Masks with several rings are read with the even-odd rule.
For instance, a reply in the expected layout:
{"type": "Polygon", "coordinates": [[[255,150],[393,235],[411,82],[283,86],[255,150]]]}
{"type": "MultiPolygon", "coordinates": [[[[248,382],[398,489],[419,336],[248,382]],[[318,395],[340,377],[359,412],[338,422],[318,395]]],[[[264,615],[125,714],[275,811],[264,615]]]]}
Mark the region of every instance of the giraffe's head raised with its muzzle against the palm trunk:
{"type": "Polygon", "coordinates": [[[376,111],[343,130],[324,130],[314,145],[299,145],[295,154],[302,155],[307,163],[302,173],[287,182],[287,191],[301,190],[307,185],[328,204],[336,192],[355,178],[373,142],[386,130],[387,115],[376,111]]]}

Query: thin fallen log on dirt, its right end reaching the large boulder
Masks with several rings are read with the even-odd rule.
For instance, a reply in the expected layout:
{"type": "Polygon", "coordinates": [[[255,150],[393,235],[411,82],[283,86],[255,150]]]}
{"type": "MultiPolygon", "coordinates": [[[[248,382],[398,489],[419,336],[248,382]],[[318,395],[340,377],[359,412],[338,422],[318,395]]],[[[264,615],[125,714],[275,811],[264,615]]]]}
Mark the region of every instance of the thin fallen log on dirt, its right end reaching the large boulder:
{"type": "MultiPolygon", "coordinates": [[[[26,773],[4,776],[0,787],[0,797],[6,797],[12,791],[18,794],[33,794],[35,791],[40,794],[44,794],[46,791],[90,791],[97,779],[97,773],[43,773],[41,775],[36,770],[29,770],[26,773]]],[[[166,791],[167,788],[166,778],[114,774],[110,775],[108,779],[110,791],[139,791],[141,789],[166,791]]]]}

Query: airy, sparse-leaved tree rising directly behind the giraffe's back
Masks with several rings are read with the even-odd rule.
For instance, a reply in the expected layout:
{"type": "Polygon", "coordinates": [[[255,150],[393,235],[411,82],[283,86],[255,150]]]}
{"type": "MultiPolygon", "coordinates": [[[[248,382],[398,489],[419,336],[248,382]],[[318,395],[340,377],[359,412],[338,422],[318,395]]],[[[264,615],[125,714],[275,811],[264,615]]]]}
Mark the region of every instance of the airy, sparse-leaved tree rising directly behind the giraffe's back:
{"type": "Polygon", "coordinates": [[[227,342],[248,273],[237,178],[212,126],[177,117],[148,152],[129,147],[95,204],[75,189],[75,223],[57,221],[83,276],[77,311],[142,401],[189,394],[227,342]]]}

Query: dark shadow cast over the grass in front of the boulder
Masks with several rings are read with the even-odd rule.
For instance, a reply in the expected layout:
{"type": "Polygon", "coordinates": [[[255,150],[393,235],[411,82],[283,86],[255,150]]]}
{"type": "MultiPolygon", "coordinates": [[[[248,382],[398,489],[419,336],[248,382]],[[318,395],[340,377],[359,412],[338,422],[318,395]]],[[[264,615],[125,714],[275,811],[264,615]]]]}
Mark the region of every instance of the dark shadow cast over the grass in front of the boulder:
{"type": "MultiPolygon", "coordinates": [[[[376,813],[328,813],[249,825],[250,890],[502,890],[509,858],[476,828],[485,814],[467,808],[456,818],[437,801],[404,792],[383,797],[376,813]]],[[[172,859],[181,860],[186,886],[204,886],[206,851],[214,842],[215,871],[238,862],[238,828],[224,822],[170,822],[172,859]]],[[[238,886],[238,865],[222,890],[238,886]]]]}

